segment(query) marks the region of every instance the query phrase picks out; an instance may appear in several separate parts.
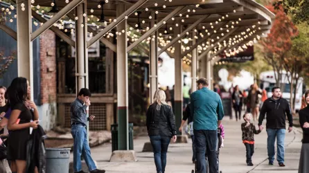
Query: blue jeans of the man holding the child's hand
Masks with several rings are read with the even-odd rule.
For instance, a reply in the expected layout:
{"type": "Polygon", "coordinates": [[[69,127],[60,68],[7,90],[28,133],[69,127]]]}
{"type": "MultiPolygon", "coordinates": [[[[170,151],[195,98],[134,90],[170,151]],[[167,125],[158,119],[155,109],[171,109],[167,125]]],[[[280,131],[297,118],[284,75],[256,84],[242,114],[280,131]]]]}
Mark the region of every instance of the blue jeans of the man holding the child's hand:
{"type": "Polygon", "coordinates": [[[285,129],[266,129],[268,160],[274,162],[274,142],[277,139],[277,161],[284,163],[285,129]]]}

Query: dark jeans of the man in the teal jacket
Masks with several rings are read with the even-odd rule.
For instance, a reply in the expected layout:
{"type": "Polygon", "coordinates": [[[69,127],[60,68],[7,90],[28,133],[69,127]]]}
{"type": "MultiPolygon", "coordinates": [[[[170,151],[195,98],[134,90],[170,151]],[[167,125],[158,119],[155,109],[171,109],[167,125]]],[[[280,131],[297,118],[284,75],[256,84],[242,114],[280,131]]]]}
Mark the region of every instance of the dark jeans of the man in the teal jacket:
{"type": "Polygon", "coordinates": [[[208,161],[209,173],[217,173],[217,130],[194,130],[194,138],[197,172],[206,173],[208,161]]]}

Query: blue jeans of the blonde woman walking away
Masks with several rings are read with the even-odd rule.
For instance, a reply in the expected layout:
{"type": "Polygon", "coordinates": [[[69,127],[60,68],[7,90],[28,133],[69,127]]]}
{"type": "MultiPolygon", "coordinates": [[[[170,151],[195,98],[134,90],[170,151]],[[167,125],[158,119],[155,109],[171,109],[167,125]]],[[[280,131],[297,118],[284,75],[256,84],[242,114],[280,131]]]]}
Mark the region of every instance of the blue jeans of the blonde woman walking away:
{"type": "Polygon", "coordinates": [[[153,149],[154,163],[157,167],[157,173],[164,173],[170,136],[150,136],[150,143],[153,149]]]}

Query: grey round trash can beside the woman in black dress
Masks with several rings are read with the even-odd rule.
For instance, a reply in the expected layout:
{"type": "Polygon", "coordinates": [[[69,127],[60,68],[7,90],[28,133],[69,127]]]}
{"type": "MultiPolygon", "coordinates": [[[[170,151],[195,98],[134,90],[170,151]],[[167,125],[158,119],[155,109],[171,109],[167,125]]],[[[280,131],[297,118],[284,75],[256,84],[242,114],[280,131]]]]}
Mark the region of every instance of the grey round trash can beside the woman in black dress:
{"type": "Polygon", "coordinates": [[[46,148],[46,173],[69,172],[70,148],[46,148]]]}

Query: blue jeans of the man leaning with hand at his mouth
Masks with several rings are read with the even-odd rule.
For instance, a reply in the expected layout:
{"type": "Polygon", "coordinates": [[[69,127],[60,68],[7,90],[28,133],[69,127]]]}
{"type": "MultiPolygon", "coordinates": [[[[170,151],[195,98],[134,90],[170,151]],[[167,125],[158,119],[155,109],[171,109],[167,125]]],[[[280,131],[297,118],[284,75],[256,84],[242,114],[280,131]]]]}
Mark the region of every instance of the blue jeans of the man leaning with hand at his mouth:
{"type": "Polygon", "coordinates": [[[96,170],[94,160],[91,158],[90,147],[87,140],[86,127],[82,125],[72,125],[71,134],[74,139],[73,147],[73,169],[74,172],[80,172],[82,170],[82,163],[80,156],[83,156],[88,166],[89,171],[96,170]]]}

